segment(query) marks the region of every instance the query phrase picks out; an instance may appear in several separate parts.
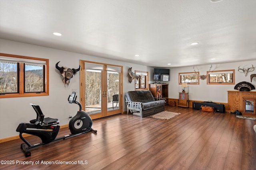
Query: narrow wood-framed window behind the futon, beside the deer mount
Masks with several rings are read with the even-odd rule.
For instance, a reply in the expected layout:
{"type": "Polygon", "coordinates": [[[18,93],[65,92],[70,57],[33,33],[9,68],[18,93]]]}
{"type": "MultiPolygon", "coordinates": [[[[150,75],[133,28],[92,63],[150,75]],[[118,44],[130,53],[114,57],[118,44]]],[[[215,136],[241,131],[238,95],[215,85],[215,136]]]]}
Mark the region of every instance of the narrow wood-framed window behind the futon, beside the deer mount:
{"type": "Polygon", "coordinates": [[[135,79],[135,90],[148,90],[148,72],[135,70],[135,74],[140,76],[135,79]]]}

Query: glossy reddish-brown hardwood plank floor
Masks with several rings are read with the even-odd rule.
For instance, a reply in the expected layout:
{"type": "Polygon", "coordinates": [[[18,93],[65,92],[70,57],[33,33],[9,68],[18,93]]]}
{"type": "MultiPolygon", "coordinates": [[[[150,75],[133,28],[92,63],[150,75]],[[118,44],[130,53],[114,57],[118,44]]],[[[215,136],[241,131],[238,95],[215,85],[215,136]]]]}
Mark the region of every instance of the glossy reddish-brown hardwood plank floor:
{"type": "MultiPolygon", "coordinates": [[[[20,149],[20,139],[0,143],[0,160],[14,160],[9,162],[14,164],[1,164],[0,169],[256,169],[255,120],[183,107],[165,109],[181,114],[169,120],[126,114],[97,119],[92,125],[97,134],[90,132],[30,149],[32,156],[27,158],[20,149]],[[46,161],[55,164],[46,165],[46,161]]],[[[67,128],[60,129],[58,136],[68,133],[67,128]]],[[[26,139],[39,142],[34,136],[26,139]]]]}

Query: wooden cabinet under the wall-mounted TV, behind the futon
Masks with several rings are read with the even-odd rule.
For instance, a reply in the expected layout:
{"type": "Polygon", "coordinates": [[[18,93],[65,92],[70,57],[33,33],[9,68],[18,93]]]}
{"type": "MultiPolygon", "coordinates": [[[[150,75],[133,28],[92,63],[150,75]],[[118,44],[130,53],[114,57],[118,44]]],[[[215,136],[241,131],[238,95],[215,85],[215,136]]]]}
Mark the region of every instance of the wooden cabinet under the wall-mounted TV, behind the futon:
{"type": "Polygon", "coordinates": [[[169,84],[149,84],[149,90],[154,98],[165,98],[165,104],[168,104],[168,85],[169,84]]]}

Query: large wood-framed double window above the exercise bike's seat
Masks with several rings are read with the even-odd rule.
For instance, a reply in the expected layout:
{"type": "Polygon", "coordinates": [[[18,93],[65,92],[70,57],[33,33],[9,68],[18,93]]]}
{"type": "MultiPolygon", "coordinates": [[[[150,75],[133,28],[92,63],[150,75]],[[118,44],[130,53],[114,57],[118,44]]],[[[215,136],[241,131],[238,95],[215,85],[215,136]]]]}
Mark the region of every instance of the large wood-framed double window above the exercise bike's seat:
{"type": "Polygon", "coordinates": [[[49,95],[49,60],[0,53],[0,98],[49,95]]]}

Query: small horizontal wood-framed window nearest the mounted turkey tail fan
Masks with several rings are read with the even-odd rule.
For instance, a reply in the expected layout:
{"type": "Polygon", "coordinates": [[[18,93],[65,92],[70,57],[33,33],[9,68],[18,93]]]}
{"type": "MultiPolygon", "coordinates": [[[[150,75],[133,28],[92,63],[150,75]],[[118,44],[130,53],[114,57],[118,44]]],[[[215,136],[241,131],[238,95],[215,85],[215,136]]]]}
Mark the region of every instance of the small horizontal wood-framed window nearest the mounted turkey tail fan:
{"type": "Polygon", "coordinates": [[[207,72],[207,84],[235,84],[235,70],[207,72]]]}

